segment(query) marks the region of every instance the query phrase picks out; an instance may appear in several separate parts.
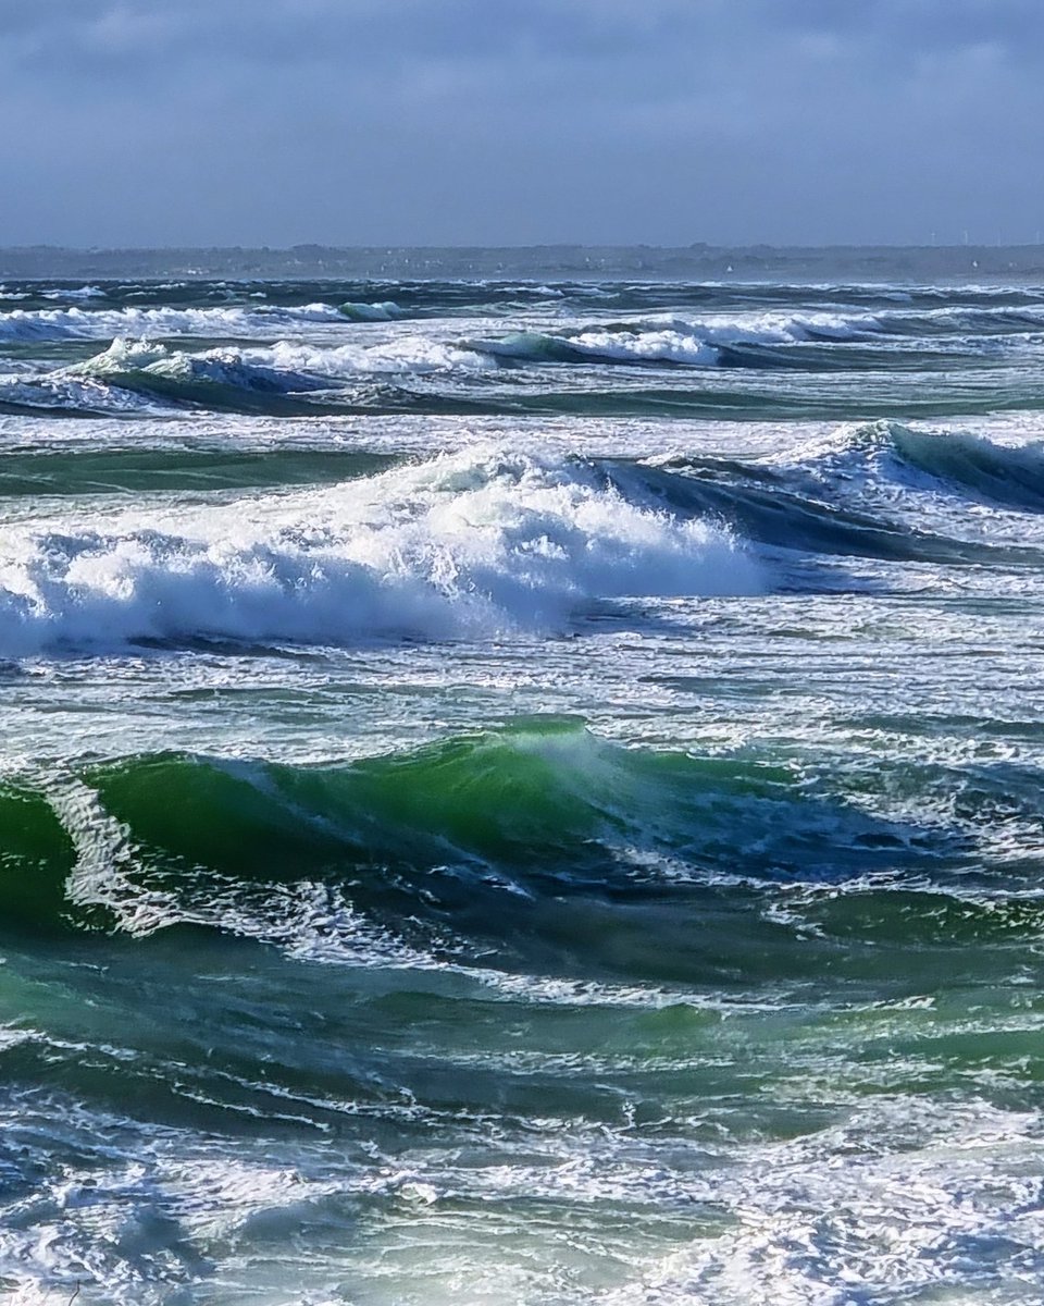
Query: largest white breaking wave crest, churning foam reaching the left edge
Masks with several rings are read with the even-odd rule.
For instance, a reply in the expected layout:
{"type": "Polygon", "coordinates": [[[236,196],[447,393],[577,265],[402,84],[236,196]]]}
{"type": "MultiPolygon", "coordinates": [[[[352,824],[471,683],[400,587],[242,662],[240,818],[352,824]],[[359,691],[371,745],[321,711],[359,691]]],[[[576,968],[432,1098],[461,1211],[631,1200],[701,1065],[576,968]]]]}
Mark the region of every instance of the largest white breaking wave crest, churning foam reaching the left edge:
{"type": "Polygon", "coordinates": [[[12,530],[0,654],[557,632],[602,601],[761,589],[724,528],[629,502],[592,468],[470,451],[258,496],[231,522],[12,530]]]}

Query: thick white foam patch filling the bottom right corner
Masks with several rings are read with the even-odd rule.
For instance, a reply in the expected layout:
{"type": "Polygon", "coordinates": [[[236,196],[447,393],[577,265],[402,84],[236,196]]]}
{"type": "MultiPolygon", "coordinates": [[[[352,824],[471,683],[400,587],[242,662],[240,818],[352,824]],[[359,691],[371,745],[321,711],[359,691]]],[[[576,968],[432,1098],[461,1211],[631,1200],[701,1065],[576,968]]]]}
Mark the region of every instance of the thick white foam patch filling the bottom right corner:
{"type": "Polygon", "coordinates": [[[594,1299],[1028,1302],[1019,1254],[1044,1233],[1040,1162],[1032,1113],[883,1098],[820,1135],[752,1149],[746,1166],[693,1192],[724,1204],[731,1229],[594,1299]],[[1005,1255],[983,1256],[987,1246],[1005,1255]]]}

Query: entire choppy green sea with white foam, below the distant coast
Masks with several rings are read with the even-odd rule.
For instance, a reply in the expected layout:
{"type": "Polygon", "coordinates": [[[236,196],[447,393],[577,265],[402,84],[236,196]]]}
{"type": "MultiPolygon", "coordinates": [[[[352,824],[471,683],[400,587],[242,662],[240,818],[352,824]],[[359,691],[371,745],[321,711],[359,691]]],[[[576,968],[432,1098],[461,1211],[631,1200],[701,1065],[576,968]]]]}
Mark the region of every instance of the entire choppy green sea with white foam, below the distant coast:
{"type": "Polygon", "coordinates": [[[1036,1306],[1044,290],[0,287],[17,1302],[1036,1306]]]}

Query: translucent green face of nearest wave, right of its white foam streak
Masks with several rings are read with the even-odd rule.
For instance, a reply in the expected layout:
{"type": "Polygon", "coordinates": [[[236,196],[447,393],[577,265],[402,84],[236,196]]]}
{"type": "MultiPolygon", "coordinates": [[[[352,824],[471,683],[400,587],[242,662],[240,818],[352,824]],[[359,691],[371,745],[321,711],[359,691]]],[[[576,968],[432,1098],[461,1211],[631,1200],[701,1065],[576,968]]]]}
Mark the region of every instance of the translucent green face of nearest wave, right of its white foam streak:
{"type": "Polygon", "coordinates": [[[606,884],[624,850],[788,875],[903,848],[786,767],[628,748],[569,717],[343,767],[170,754],[85,778],[154,857],[235,878],[453,865],[606,884]]]}

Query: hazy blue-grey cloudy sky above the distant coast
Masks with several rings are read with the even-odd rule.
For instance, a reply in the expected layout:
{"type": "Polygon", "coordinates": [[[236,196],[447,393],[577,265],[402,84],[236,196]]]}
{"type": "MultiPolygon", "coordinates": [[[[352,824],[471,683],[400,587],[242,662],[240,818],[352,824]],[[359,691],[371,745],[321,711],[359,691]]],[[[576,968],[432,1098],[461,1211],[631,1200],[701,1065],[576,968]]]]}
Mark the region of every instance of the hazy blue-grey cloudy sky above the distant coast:
{"type": "Polygon", "coordinates": [[[0,246],[1044,229],[1044,0],[0,0],[0,246]]]}

